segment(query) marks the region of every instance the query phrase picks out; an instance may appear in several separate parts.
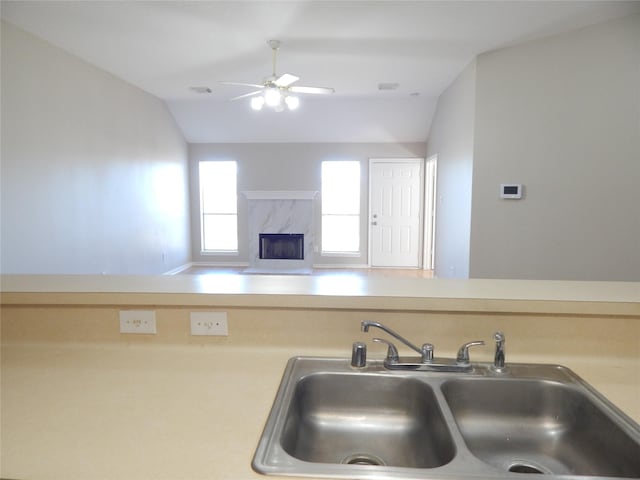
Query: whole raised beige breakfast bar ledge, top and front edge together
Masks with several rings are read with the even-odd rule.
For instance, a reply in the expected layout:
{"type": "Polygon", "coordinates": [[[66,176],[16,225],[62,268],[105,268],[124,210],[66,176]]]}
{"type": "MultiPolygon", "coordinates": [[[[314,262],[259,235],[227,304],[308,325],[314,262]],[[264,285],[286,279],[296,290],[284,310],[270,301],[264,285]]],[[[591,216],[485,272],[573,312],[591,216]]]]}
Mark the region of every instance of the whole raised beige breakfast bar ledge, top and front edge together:
{"type": "Polygon", "coordinates": [[[304,308],[640,315],[640,282],[424,280],[355,275],[4,275],[0,277],[0,292],[4,304],[286,304],[304,308]]]}

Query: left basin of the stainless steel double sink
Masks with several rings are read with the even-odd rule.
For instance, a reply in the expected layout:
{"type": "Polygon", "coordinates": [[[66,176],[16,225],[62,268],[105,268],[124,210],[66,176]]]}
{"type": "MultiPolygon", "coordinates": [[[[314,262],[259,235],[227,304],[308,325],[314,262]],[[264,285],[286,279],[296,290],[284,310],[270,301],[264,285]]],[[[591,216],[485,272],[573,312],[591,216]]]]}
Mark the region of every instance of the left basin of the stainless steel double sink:
{"type": "Polygon", "coordinates": [[[431,387],[412,378],[317,373],[297,382],[280,437],[306,462],[433,468],[455,446],[431,387]]]}

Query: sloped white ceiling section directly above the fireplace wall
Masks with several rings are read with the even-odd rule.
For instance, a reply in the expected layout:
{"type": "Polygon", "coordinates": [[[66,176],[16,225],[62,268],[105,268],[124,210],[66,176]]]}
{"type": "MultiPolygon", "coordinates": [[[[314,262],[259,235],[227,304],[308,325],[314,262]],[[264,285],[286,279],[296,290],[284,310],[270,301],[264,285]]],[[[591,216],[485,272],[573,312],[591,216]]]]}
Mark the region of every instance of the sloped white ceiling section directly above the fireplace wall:
{"type": "MultiPolygon", "coordinates": [[[[231,89],[228,98],[245,92],[231,89]]],[[[286,114],[254,112],[248,99],[220,102],[206,95],[167,104],[189,143],[406,143],[425,137],[435,108],[432,98],[408,95],[305,95],[300,108],[286,114]]]]}

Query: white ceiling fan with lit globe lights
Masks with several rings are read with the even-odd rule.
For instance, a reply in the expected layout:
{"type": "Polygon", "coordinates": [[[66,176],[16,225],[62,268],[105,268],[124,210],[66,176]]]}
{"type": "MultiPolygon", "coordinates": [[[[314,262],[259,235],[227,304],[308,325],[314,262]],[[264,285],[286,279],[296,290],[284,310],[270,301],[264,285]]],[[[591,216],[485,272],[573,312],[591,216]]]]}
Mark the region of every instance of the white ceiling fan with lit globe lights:
{"type": "Polygon", "coordinates": [[[273,108],[276,112],[282,112],[285,106],[289,110],[295,110],[300,105],[300,99],[295,94],[312,94],[325,95],[334,92],[333,88],[328,87],[304,87],[302,85],[293,85],[300,80],[299,77],[290,73],[278,75],[276,73],[276,62],[278,60],[278,49],[282,42],[280,40],[269,40],[267,44],[273,52],[273,73],[270,77],[265,78],[262,84],[242,83],[242,82],[219,82],[222,85],[239,85],[243,87],[254,87],[259,90],[245,93],[232,98],[231,100],[239,100],[241,98],[251,98],[251,107],[254,110],[262,110],[265,105],[273,108]]]}

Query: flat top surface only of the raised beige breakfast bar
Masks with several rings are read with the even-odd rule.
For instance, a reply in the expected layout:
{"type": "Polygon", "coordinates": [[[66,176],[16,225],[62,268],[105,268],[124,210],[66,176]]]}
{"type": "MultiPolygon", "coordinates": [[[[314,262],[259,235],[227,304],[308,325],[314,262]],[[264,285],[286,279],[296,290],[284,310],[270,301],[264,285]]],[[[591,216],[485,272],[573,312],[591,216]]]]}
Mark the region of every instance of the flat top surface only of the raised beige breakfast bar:
{"type": "Polygon", "coordinates": [[[640,302],[640,282],[425,280],[357,275],[3,275],[0,290],[640,302]]]}

